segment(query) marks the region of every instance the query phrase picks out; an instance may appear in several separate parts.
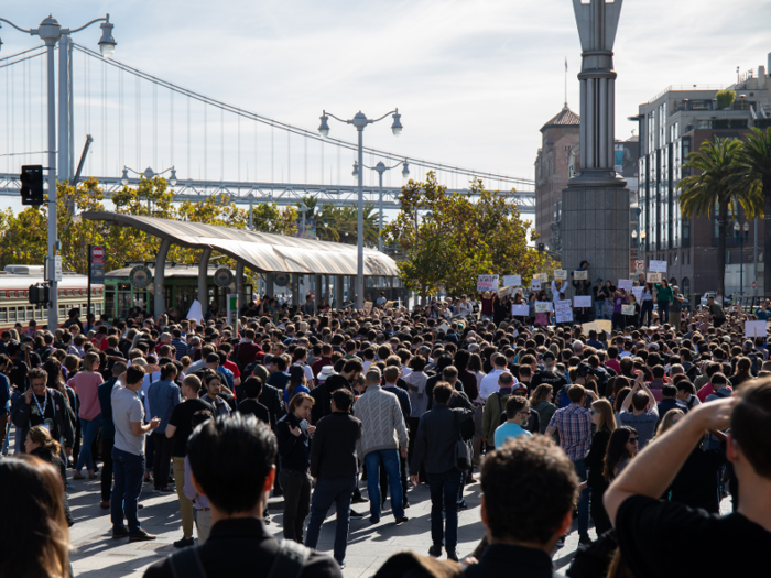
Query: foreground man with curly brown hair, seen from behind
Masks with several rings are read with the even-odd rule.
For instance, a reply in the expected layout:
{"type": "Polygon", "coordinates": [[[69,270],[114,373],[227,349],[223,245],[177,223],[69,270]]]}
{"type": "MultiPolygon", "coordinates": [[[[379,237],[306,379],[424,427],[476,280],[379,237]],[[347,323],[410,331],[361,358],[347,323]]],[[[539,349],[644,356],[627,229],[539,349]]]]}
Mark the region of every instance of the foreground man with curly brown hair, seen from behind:
{"type": "Polygon", "coordinates": [[[491,451],[481,466],[489,546],[466,577],[511,576],[519,564],[526,564],[523,576],[552,576],[552,552],[573,523],[577,487],[572,461],[545,436],[520,436],[491,451]]]}

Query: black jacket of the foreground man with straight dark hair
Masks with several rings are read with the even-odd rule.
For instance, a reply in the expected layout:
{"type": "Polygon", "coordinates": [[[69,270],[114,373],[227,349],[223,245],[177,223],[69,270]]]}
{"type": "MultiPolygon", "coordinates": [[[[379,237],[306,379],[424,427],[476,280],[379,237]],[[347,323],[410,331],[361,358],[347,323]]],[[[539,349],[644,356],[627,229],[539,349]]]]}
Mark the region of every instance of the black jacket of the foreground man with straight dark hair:
{"type": "MultiPolygon", "coordinates": [[[[198,548],[204,571],[209,578],[264,578],[279,552],[279,541],[257,517],[220,520],[211,527],[209,539],[198,548]]],[[[169,559],[144,570],[144,578],[172,578],[169,559]]],[[[337,563],[313,550],[300,578],[343,578],[337,563]]]]}

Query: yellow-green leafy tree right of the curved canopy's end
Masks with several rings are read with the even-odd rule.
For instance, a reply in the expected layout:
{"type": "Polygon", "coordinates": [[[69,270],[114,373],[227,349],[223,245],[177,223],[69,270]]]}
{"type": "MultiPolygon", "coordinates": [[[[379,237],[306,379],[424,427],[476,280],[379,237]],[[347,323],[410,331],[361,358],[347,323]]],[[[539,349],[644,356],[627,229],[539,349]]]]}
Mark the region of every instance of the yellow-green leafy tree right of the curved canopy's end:
{"type": "MultiPolygon", "coordinates": [[[[406,253],[399,270],[408,288],[476,293],[482,274],[518,273],[529,283],[544,262],[528,246],[530,223],[521,219],[517,201],[486,190],[481,181],[471,184],[468,195],[448,193],[428,173],[425,183],[410,181],[399,200],[399,216],[384,227],[383,237],[406,253]]],[[[530,240],[536,238],[531,233],[530,240]]]]}

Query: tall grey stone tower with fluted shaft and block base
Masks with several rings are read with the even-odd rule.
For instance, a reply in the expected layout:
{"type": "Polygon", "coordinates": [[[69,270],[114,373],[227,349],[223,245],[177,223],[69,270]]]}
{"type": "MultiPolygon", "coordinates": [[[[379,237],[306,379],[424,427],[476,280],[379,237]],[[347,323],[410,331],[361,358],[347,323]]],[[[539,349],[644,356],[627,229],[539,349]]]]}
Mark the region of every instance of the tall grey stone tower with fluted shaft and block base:
{"type": "Polygon", "coordinates": [[[622,0],[573,0],[582,44],[580,165],[562,192],[562,265],[589,281],[629,277],[629,190],[613,170],[613,42],[622,0]]]}

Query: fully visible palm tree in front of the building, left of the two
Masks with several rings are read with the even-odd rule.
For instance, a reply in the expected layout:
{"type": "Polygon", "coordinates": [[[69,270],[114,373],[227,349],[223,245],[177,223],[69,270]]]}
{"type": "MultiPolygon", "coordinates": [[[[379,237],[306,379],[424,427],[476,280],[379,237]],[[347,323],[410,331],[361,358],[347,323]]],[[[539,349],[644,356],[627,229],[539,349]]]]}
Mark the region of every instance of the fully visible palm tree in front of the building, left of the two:
{"type": "Polygon", "coordinates": [[[714,143],[704,141],[698,151],[688,154],[688,162],[683,165],[683,168],[698,173],[677,183],[677,188],[683,192],[680,197],[683,218],[712,217],[717,208],[717,293],[724,296],[728,207],[738,203],[748,218],[761,209],[759,195],[737,183],[741,167],[736,161],[741,146],[740,141],[731,139],[716,139],[714,143]]]}

